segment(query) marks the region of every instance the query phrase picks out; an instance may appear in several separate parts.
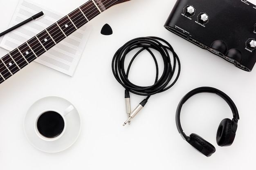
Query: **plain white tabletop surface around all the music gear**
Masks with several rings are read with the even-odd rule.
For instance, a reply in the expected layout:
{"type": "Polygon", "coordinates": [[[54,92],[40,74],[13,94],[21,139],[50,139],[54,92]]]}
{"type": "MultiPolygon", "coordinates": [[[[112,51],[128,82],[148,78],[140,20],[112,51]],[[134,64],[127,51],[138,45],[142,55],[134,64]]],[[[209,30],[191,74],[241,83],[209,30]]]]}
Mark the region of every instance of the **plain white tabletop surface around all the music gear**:
{"type": "MultiPolygon", "coordinates": [[[[256,4],[256,0],[251,2],[256,4]]],[[[85,1],[39,3],[67,14],[85,1]]],[[[1,31],[7,29],[16,4],[18,0],[0,1],[1,31]]],[[[73,77],[32,62],[2,83],[0,169],[254,169],[256,68],[250,73],[242,71],[167,31],[163,25],[174,4],[175,0],[131,0],[94,18],[90,21],[92,33],[73,77]],[[100,34],[106,23],[112,27],[112,35],[100,34]],[[112,75],[111,61],[120,46],[144,36],[157,36],[171,43],[180,57],[182,71],[170,90],[150,97],[131,125],[123,127],[127,118],[124,88],[112,75]],[[220,147],[216,144],[216,131],[222,119],[232,119],[229,106],[214,94],[199,94],[186,102],[181,114],[183,130],[186,135],[197,133],[216,147],[216,152],[208,158],[184,141],[175,125],[180,99],[200,86],[225,92],[240,114],[234,143],[220,147]],[[54,154],[34,148],[23,132],[23,119],[29,106],[52,95],[72,102],[82,121],[81,134],[74,145],[54,154]]],[[[7,53],[0,49],[1,56],[7,53]]],[[[150,59],[151,70],[155,70],[150,59]]],[[[130,77],[138,84],[149,85],[154,79],[150,71],[152,74],[146,76],[136,74],[136,70],[141,70],[136,64],[132,70],[134,74],[130,77]]],[[[143,98],[131,95],[132,109],[143,98]]]]}

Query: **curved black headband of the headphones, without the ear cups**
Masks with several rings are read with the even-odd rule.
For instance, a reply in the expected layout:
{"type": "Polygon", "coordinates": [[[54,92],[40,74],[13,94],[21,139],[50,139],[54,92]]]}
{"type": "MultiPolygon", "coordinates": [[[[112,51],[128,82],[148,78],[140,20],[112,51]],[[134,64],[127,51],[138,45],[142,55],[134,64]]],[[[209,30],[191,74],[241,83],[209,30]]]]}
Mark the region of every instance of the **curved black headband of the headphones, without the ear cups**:
{"type": "Polygon", "coordinates": [[[225,93],[223,93],[222,91],[216,89],[216,88],[212,88],[212,87],[199,87],[199,88],[195,88],[194,90],[190,91],[189,93],[187,93],[180,101],[179,105],[177,106],[177,110],[176,110],[176,126],[177,129],[179,131],[180,134],[182,134],[182,137],[184,137],[185,139],[187,139],[187,136],[185,135],[185,133],[182,130],[181,124],[180,124],[180,111],[182,108],[182,105],[193,95],[198,94],[198,93],[215,93],[217,95],[219,95],[220,97],[222,97],[222,99],[224,99],[227,104],[229,105],[229,107],[232,110],[233,113],[233,118],[237,121],[239,119],[239,115],[238,115],[238,110],[236,108],[236,105],[234,104],[234,102],[231,100],[231,98],[226,95],[225,93]]]}

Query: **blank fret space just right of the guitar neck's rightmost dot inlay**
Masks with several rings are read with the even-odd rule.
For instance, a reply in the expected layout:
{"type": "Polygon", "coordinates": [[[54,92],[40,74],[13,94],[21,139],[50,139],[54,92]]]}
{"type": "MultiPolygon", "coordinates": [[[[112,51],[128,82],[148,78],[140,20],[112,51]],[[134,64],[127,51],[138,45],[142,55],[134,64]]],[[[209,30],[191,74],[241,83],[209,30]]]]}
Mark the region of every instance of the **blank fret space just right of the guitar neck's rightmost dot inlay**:
{"type": "Polygon", "coordinates": [[[80,12],[79,8],[74,10],[72,13],[68,14],[68,17],[77,29],[79,29],[81,26],[88,22],[86,18],[84,18],[83,13],[80,12]]]}

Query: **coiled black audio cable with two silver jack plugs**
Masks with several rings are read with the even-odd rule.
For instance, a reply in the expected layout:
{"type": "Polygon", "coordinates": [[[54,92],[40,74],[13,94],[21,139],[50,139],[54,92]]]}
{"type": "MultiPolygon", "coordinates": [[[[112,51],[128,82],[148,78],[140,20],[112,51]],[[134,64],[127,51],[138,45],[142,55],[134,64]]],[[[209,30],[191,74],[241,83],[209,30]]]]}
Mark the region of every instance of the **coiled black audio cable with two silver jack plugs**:
{"type": "Polygon", "coordinates": [[[125,101],[126,101],[126,113],[128,113],[128,119],[125,121],[123,126],[127,123],[130,124],[130,119],[132,119],[138,112],[145,106],[149,97],[156,93],[161,93],[163,91],[168,90],[171,88],[176,82],[180,75],[180,60],[171,44],[169,44],[166,40],[158,37],[141,37],[135,38],[130,40],[118,51],[115,53],[113,60],[112,60],[112,72],[117,79],[117,81],[126,89],[125,90],[125,101]],[[162,44],[161,42],[164,42],[162,44]],[[158,78],[158,64],[156,57],[152,51],[152,49],[158,51],[162,56],[164,61],[164,71],[160,78],[158,78]],[[137,50],[137,53],[132,57],[130,63],[128,65],[127,70],[125,71],[124,62],[126,55],[132,51],[137,50]],[[153,57],[155,66],[156,66],[156,76],[155,76],[155,83],[152,86],[137,86],[129,81],[128,74],[130,71],[130,67],[132,62],[135,58],[141,53],[142,51],[148,51],[150,55],[153,57]],[[173,53],[173,66],[171,64],[171,58],[169,53],[173,53]],[[178,71],[175,72],[176,65],[178,66],[178,71]],[[176,76],[176,77],[175,77],[176,76]],[[174,79],[171,82],[171,79],[174,79]],[[132,112],[130,112],[130,95],[129,92],[134,93],[136,95],[147,96],[132,112]]]}

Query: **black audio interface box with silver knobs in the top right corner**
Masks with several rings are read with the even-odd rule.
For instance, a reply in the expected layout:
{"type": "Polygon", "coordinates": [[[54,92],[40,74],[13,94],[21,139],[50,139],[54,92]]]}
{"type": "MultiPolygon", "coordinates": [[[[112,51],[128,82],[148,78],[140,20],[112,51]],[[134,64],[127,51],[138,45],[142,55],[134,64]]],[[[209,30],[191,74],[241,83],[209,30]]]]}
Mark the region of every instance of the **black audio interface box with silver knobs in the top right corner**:
{"type": "Polygon", "coordinates": [[[164,27],[245,71],[256,62],[256,5],[246,0],[177,0],[164,27]]]}

